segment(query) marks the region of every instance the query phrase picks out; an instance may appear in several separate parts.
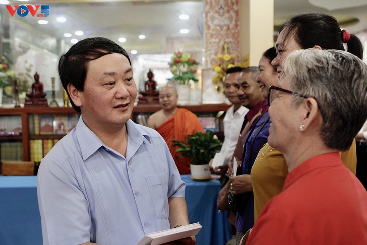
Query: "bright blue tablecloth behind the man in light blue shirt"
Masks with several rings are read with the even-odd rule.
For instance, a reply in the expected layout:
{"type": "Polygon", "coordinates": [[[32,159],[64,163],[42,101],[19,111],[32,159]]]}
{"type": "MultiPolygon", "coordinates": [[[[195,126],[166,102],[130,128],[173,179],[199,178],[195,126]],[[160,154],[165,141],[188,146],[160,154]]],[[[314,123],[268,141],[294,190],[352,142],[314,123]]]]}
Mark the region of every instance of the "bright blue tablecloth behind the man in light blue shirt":
{"type": "MultiPolygon", "coordinates": [[[[219,181],[181,177],[186,183],[189,221],[203,226],[196,236],[197,245],[224,245],[231,235],[226,213],[216,209],[219,181]]],[[[0,176],[1,245],[42,244],[36,186],[37,176],[0,176]]]]}

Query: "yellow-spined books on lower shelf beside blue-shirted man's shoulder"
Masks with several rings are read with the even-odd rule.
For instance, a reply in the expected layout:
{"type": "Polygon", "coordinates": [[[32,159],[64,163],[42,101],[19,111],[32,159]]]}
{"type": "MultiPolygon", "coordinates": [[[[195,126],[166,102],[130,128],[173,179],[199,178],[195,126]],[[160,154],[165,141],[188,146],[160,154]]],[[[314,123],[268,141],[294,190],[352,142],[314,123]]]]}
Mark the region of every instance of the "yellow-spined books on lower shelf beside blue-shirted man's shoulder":
{"type": "Polygon", "coordinates": [[[58,141],[58,139],[31,139],[29,141],[30,160],[40,162],[58,141]]]}

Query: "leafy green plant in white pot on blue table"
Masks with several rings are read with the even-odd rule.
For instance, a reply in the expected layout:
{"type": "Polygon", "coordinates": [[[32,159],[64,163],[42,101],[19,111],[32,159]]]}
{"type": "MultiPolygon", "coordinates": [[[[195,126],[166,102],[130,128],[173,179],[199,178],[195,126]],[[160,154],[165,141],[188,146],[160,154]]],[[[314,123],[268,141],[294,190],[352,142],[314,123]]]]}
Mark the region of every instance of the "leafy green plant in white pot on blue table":
{"type": "Polygon", "coordinates": [[[173,145],[178,146],[177,157],[188,157],[193,179],[210,178],[209,161],[220,151],[222,142],[210,130],[206,133],[199,131],[188,135],[185,141],[172,139],[173,145]]]}

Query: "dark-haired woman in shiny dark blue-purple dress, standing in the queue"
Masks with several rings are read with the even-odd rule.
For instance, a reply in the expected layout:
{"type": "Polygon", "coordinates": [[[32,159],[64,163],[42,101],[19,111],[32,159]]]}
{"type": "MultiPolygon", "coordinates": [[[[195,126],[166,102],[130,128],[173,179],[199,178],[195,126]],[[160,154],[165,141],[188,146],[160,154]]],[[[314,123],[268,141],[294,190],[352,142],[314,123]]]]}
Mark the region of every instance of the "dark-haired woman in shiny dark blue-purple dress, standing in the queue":
{"type": "MultiPolygon", "coordinates": [[[[278,74],[276,69],[271,65],[271,60],[276,57],[275,49],[272,47],[264,52],[259,61],[259,72],[254,79],[262,89],[261,95],[264,99],[267,98],[268,88],[270,85],[278,85],[278,74]]],[[[259,149],[267,142],[269,135],[270,120],[266,110],[252,126],[249,127],[248,133],[244,140],[242,164],[238,166],[237,176],[229,179],[229,195],[234,200],[235,204],[231,206],[232,211],[236,211],[236,243],[239,244],[242,236],[252,227],[254,223],[253,212],[253,195],[252,184],[249,174],[254,160],[259,152],[259,149]],[[233,198],[236,196],[235,198],[233,198]],[[235,209],[235,210],[234,210],[235,209]]],[[[229,174],[233,175],[233,162],[230,164],[229,174]]],[[[228,202],[228,186],[222,189],[219,198],[218,206],[223,202],[228,202]],[[226,195],[223,192],[226,191],[226,195]]]]}

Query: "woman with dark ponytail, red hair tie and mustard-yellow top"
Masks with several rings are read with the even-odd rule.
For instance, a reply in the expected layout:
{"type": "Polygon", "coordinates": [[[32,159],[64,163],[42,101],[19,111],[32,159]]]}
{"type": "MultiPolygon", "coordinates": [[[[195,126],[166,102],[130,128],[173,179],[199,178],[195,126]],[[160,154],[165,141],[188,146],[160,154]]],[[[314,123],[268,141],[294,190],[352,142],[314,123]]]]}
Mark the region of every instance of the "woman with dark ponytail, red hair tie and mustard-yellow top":
{"type": "MultiPolygon", "coordinates": [[[[281,73],[286,57],[298,49],[338,49],[353,53],[360,59],[363,47],[360,40],[341,30],[334,17],[324,14],[302,14],[292,17],[281,26],[276,42],[277,57],[271,62],[281,73]]],[[[269,98],[271,100],[271,98],[269,98]]],[[[340,152],[342,161],[353,174],[356,172],[355,140],[349,149],[340,152]]],[[[254,190],[255,220],[262,208],[274,196],[282,191],[288,170],[283,155],[269,144],[260,150],[251,171],[254,190]]]]}

